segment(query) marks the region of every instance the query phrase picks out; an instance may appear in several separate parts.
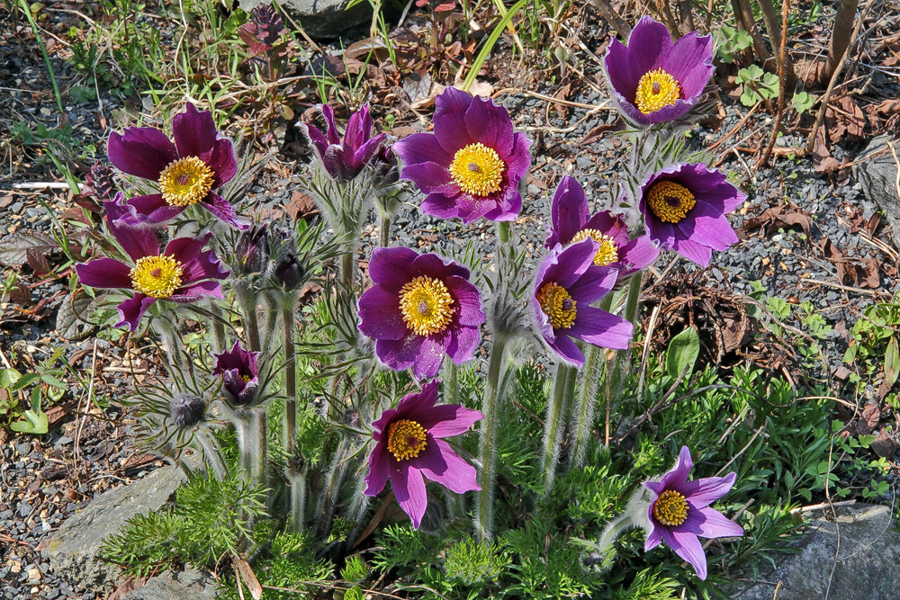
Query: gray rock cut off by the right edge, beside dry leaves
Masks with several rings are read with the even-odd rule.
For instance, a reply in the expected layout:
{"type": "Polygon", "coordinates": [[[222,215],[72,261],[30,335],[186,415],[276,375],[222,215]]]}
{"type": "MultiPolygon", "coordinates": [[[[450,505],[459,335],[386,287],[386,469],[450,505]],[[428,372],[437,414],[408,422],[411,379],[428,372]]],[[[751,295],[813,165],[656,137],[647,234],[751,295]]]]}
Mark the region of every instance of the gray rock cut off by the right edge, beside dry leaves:
{"type": "MultiPolygon", "coordinates": [[[[900,154],[900,140],[892,139],[894,149],[900,154]]],[[[878,210],[882,210],[891,225],[891,239],[894,246],[900,247],[900,197],[897,197],[897,164],[890,148],[887,147],[887,136],[878,136],[869,142],[869,146],[856,158],[853,165],[853,176],[862,184],[862,193],[866,199],[874,202],[878,210]]],[[[900,594],[898,594],[900,597],[900,594]]]]}

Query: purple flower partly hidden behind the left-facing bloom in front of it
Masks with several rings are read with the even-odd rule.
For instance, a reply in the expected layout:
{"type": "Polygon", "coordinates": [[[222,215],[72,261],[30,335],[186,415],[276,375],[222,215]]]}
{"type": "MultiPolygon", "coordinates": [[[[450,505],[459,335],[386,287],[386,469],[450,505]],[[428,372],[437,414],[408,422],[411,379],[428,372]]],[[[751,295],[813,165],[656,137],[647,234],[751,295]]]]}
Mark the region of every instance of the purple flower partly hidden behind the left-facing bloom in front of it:
{"type": "Polygon", "coordinates": [[[622,217],[609,210],[601,210],[592,217],[589,215],[588,197],[581,184],[570,175],[564,176],[551,204],[553,228],[547,235],[545,246],[569,246],[590,237],[600,245],[594,264],[617,268],[619,277],[644,269],[660,255],[650,237],[630,239],[628,225],[622,217]]]}

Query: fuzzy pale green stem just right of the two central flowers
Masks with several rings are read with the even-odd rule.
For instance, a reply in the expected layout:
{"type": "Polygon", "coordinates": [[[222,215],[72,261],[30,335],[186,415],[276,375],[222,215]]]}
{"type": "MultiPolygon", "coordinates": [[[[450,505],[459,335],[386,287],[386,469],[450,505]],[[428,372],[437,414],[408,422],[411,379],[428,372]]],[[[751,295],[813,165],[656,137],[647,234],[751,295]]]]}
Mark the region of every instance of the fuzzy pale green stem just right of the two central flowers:
{"type": "MultiPolygon", "coordinates": [[[[499,223],[498,225],[502,225],[499,223]]],[[[500,420],[500,375],[503,365],[503,354],[506,351],[506,339],[499,336],[491,348],[491,363],[488,365],[488,381],[484,385],[482,399],[482,438],[478,448],[478,459],[482,470],[478,473],[478,504],[475,507],[475,532],[482,540],[493,537],[494,516],[494,469],[496,465],[494,451],[497,446],[498,421],[500,420]]]]}

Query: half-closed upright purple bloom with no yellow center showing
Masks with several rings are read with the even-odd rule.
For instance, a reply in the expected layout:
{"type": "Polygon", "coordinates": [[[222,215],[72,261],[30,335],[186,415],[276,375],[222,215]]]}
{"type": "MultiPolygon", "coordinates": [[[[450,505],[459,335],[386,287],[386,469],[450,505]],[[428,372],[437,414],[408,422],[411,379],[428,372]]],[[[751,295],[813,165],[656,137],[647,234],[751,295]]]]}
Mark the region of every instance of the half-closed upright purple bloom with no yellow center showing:
{"type": "Polygon", "coordinates": [[[328,123],[328,129],[322,133],[319,128],[302,123],[316,148],[325,169],[334,179],[349,181],[359,175],[363,168],[373,161],[382,160],[380,152],[384,145],[385,134],[372,137],[372,117],[369,116],[369,105],[350,115],[343,141],[338,136],[335,125],[335,112],[329,104],[321,105],[322,116],[328,123]]]}

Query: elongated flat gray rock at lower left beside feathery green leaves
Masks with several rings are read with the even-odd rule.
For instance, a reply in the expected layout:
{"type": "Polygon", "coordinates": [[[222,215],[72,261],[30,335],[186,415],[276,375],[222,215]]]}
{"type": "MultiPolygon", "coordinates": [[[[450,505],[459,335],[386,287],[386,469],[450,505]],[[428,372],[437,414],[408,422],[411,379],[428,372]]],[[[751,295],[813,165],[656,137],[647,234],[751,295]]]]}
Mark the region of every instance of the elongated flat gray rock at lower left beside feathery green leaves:
{"type": "Polygon", "coordinates": [[[120,533],[132,516],[159,510],[183,480],[181,470],[167,466],[94,498],[50,539],[50,566],[62,577],[88,589],[112,587],[121,578],[121,569],[97,555],[103,538],[120,533]]]}

